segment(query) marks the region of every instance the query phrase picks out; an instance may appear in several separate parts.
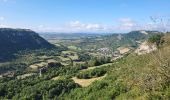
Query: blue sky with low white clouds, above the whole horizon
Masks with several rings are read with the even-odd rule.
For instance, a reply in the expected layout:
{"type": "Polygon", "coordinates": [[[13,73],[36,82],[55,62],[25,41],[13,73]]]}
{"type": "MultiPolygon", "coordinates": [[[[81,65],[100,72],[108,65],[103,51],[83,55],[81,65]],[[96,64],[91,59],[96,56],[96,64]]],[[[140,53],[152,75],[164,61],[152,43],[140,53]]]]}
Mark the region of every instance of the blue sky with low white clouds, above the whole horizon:
{"type": "Polygon", "coordinates": [[[0,27],[37,32],[170,31],[169,0],[0,0],[0,27]]]}

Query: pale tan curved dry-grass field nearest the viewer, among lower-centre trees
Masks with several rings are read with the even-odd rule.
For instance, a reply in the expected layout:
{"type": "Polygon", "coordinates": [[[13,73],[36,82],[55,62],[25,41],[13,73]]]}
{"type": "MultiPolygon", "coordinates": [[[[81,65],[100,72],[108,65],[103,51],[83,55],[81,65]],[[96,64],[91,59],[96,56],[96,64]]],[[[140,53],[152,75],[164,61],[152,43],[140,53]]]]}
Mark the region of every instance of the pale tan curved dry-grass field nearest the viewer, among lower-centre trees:
{"type": "Polygon", "coordinates": [[[72,79],[74,80],[75,83],[81,85],[82,87],[87,87],[90,84],[92,84],[94,81],[102,80],[105,77],[106,77],[106,75],[97,77],[97,78],[91,78],[91,79],[78,79],[77,77],[73,77],[72,79]]]}

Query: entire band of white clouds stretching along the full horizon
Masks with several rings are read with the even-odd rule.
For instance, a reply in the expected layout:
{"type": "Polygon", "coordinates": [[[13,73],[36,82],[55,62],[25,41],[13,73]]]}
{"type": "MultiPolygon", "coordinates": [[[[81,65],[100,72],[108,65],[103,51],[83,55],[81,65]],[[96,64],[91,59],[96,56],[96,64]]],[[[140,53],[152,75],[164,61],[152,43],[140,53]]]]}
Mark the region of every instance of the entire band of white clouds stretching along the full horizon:
{"type": "Polygon", "coordinates": [[[62,32],[62,33],[116,33],[116,32],[129,32],[133,30],[157,30],[157,31],[170,31],[170,20],[150,21],[147,23],[140,23],[131,18],[120,18],[113,22],[116,24],[107,25],[99,23],[83,23],[78,20],[70,21],[59,26],[21,26],[15,27],[1,23],[4,17],[0,17],[0,27],[11,28],[30,28],[38,32],[62,32]]]}

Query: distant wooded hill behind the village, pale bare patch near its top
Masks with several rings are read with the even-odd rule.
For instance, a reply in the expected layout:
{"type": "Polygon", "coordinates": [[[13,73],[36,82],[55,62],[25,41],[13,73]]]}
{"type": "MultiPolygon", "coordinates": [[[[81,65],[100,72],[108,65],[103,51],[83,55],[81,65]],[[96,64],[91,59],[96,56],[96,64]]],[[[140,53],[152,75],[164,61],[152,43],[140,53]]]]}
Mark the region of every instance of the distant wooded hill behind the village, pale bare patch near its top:
{"type": "Polygon", "coordinates": [[[158,31],[137,30],[124,34],[112,34],[100,37],[101,40],[95,41],[95,44],[102,47],[110,47],[116,50],[119,47],[133,47],[137,48],[139,43],[147,40],[154,34],[159,34],[158,31]]]}

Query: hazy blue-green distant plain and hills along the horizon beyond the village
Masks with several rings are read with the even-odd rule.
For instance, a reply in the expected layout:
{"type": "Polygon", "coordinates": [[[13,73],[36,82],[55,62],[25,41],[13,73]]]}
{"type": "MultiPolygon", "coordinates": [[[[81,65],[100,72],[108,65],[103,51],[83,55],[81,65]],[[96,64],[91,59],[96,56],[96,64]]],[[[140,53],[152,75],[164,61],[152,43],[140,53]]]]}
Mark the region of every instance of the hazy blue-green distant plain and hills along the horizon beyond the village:
{"type": "MultiPolygon", "coordinates": [[[[112,34],[88,34],[88,33],[72,33],[72,34],[48,34],[41,33],[40,35],[49,41],[56,39],[66,40],[81,40],[80,43],[73,44],[82,50],[97,50],[100,48],[109,48],[117,50],[119,47],[129,47],[136,49],[140,43],[147,40],[154,34],[159,34],[158,31],[136,30],[128,33],[112,33],[112,34]]],[[[67,41],[66,41],[67,42],[67,41]]],[[[72,41],[71,41],[72,42],[72,41]]],[[[69,46],[70,43],[66,43],[69,46]]]]}

